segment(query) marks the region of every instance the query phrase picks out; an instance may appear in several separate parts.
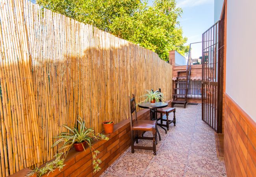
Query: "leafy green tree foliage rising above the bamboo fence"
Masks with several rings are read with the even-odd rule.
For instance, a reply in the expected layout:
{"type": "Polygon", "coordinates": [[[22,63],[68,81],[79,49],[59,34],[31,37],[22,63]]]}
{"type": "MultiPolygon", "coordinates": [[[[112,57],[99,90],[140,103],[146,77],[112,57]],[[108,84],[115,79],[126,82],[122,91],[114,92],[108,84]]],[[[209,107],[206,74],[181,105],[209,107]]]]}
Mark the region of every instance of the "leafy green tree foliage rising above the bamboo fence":
{"type": "Polygon", "coordinates": [[[100,30],[152,50],[169,61],[169,51],[188,52],[175,0],[37,0],[37,3],[100,30]]]}

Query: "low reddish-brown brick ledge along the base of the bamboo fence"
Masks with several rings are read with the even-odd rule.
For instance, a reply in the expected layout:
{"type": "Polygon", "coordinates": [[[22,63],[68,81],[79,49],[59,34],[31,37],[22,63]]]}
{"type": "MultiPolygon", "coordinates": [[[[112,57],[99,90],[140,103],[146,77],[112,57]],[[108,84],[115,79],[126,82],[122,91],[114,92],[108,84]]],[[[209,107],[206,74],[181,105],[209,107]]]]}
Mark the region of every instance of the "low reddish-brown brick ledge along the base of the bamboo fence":
{"type": "MultiPolygon", "coordinates": [[[[166,101],[171,105],[171,101],[166,101]]],[[[160,114],[158,114],[160,117],[160,114]]],[[[149,109],[143,109],[137,112],[138,120],[149,120],[150,114],[149,109]]],[[[98,177],[104,170],[106,170],[128,147],[130,146],[130,120],[124,120],[114,125],[114,132],[107,134],[110,140],[100,140],[93,144],[93,148],[100,151],[98,158],[102,160],[100,170],[97,173],[93,173],[92,157],[89,147],[86,151],[76,152],[72,148],[67,158],[65,159],[64,168],[59,171],[55,170],[53,173],[49,173],[48,177],[98,177]]],[[[152,152],[153,153],[153,152],[152,152]]],[[[26,173],[30,171],[28,168],[18,171],[11,175],[11,177],[25,177],[26,173]]],[[[33,177],[36,177],[34,175],[33,177]]],[[[43,175],[43,177],[47,177],[43,175]]]]}

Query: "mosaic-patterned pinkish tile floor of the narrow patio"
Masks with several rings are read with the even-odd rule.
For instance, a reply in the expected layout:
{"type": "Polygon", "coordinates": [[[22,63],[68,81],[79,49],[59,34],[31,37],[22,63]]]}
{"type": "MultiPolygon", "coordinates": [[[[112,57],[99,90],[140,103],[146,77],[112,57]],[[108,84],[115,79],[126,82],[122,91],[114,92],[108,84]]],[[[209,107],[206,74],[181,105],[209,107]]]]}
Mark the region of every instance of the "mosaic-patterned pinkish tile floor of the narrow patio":
{"type": "MultiPolygon", "coordinates": [[[[226,176],[224,162],[217,158],[214,131],[201,120],[201,104],[175,107],[176,127],[171,124],[167,134],[158,128],[162,140],[156,145],[156,156],[139,149],[132,154],[128,148],[101,177],[226,176]]],[[[139,144],[152,146],[150,140],[139,144]]]]}

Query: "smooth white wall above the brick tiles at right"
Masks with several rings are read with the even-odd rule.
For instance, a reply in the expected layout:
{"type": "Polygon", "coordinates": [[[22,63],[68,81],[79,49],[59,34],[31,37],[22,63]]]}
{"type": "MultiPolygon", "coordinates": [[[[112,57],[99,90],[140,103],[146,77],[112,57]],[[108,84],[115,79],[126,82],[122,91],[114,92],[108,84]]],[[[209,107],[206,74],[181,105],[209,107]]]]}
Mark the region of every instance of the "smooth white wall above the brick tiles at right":
{"type": "Polygon", "coordinates": [[[228,0],[226,93],[256,122],[256,0],[228,0]]]}

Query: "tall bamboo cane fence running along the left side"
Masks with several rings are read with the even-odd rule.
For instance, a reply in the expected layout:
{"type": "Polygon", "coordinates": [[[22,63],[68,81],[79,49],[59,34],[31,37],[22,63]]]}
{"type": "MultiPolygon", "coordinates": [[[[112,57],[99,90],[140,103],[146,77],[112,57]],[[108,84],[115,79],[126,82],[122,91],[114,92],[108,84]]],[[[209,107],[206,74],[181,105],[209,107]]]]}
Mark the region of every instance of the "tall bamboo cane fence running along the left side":
{"type": "Polygon", "coordinates": [[[0,177],[54,158],[53,137],[78,116],[128,118],[128,95],[161,88],[172,68],[150,50],[28,2],[0,0],[0,177]]]}

